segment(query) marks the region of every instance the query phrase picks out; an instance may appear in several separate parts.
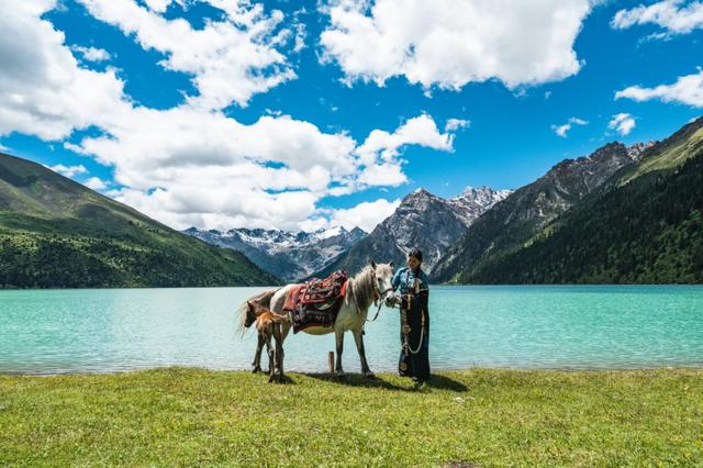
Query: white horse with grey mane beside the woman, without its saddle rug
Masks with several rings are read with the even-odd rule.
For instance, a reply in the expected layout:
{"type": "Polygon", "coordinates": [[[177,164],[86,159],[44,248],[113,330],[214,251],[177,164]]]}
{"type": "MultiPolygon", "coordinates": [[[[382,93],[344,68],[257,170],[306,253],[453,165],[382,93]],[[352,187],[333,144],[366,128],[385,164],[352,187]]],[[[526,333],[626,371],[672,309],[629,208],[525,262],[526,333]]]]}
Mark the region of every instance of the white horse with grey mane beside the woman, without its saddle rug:
{"type": "MultiPolygon", "coordinates": [[[[339,312],[337,312],[337,317],[334,322],[334,326],[310,326],[303,330],[303,332],[310,333],[312,335],[326,335],[334,332],[337,348],[337,358],[335,364],[335,371],[337,372],[337,376],[344,375],[344,369],[342,368],[344,333],[350,331],[354,335],[354,341],[356,342],[356,348],[359,352],[359,359],[361,360],[361,372],[366,377],[373,377],[373,372],[371,372],[371,369],[369,368],[369,365],[366,360],[366,350],[364,349],[364,325],[367,322],[367,316],[371,304],[378,303],[378,301],[381,301],[382,303],[382,301],[386,299],[386,294],[388,292],[392,292],[392,263],[377,265],[375,261],[371,261],[368,266],[364,267],[361,271],[359,271],[353,278],[349,278],[347,282],[347,289],[339,308],[339,312]]],[[[283,304],[286,302],[288,293],[297,286],[299,285],[287,285],[276,291],[267,291],[254,298],[250,298],[249,301],[258,302],[264,307],[268,305],[271,311],[282,313],[283,304]],[[269,301],[268,304],[266,303],[267,300],[269,301]]],[[[250,319],[247,320],[247,302],[245,302],[238,309],[241,331],[244,331],[244,327],[248,327],[252,324],[250,319]]],[[[286,341],[286,337],[290,332],[290,323],[281,324],[281,347],[279,347],[279,349],[281,350],[282,342],[286,341]]],[[[256,355],[254,357],[255,371],[257,370],[257,368],[260,370],[261,350],[263,346],[259,343],[256,349],[256,355]]],[[[281,361],[282,357],[283,356],[281,355],[281,361]]],[[[271,364],[269,363],[269,365],[271,364]]]]}

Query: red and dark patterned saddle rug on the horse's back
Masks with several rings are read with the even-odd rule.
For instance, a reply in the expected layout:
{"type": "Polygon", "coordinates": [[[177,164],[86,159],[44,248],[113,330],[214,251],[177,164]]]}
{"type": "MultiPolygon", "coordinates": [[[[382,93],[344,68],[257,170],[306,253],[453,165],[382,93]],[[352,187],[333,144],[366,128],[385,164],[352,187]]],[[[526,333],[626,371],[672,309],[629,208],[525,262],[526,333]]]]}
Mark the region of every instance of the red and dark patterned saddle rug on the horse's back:
{"type": "Polygon", "coordinates": [[[293,333],[310,326],[334,326],[347,288],[347,272],[338,270],[325,279],[313,279],[292,288],[283,311],[291,314],[293,333]]]}

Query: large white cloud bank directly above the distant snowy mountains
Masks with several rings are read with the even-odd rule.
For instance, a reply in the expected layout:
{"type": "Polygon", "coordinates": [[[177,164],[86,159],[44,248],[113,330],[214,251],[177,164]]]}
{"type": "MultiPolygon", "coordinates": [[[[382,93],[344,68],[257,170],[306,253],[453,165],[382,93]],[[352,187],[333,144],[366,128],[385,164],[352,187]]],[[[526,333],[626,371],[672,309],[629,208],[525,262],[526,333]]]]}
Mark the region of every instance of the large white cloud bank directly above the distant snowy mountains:
{"type": "Polygon", "coordinates": [[[109,130],[79,149],[114,167],[126,187],[118,200],[175,227],[298,230],[323,197],[404,182],[400,147],[451,149],[451,135],[438,133],[427,115],[392,134],[373,131],[358,147],[344,133],[288,115],[244,125],[190,108],[135,109],[109,130]]]}

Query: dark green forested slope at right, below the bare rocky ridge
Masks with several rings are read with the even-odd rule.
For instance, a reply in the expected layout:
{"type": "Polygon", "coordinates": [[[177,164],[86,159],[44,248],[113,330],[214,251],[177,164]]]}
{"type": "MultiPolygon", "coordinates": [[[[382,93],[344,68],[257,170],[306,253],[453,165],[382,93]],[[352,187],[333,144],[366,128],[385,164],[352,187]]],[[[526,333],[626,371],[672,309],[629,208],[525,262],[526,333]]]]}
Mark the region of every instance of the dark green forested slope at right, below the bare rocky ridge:
{"type": "Polygon", "coordinates": [[[458,282],[703,282],[703,119],[458,282]]]}

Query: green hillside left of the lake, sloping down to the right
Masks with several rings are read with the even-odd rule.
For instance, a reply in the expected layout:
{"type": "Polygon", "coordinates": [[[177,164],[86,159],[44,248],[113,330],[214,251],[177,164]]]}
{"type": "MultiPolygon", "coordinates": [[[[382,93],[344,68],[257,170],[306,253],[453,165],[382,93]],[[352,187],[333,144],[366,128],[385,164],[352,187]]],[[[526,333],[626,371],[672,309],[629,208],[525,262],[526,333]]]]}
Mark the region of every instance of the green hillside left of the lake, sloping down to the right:
{"type": "Polygon", "coordinates": [[[38,164],[0,154],[0,287],[271,285],[208,245],[38,164]]]}

